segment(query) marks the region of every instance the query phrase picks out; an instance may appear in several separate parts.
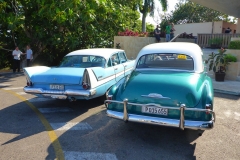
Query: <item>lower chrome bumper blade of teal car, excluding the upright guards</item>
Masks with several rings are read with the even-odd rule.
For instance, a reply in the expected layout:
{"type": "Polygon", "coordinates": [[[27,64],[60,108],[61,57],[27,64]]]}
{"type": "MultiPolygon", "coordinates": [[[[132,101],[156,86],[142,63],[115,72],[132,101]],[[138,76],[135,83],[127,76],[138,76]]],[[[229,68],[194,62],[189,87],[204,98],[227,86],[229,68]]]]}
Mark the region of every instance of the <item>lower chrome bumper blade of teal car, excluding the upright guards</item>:
{"type": "MultiPolygon", "coordinates": [[[[107,115],[116,119],[123,119],[123,113],[107,110],[107,115]]],[[[146,123],[146,124],[154,124],[159,126],[168,126],[168,127],[179,127],[180,120],[176,119],[167,119],[167,118],[157,118],[157,117],[149,117],[142,115],[129,114],[128,121],[130,122],[138,122],[138,123],[146,123]]],[[[214,127],[214,121],[184,121],[184,128],[193,129],[193,130],[209,130],[214,127]]]]}

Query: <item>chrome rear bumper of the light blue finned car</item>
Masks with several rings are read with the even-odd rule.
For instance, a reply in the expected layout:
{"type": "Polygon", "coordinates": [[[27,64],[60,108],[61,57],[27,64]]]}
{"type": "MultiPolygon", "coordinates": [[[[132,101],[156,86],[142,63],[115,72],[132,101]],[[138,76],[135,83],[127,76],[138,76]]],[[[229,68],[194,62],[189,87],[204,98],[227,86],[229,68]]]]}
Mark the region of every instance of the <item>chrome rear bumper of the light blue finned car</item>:
{"type": "Polygon", "coordinates": [[[96,90],[43,90],[42,88],[24,87],[23,91],[30,94],[42,94],[43,96],[50,96],[52,98],[66,99],[67,96],[83,96],[90,97],[96,94],[96,90]]]}

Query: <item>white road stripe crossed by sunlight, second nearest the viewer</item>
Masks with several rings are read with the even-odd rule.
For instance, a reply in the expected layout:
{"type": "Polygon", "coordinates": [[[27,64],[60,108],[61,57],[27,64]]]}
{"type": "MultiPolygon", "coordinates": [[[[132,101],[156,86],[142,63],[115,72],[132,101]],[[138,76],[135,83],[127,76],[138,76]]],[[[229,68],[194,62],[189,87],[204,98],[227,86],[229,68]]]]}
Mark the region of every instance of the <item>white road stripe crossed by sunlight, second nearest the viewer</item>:
{"type": "Polygon", "coordinates": [[[57,131],[65,131],[65,130],[91,130],[92,127],[86,122],[78,122],[78,123],[50,123],[52,128],[57,131]]]}

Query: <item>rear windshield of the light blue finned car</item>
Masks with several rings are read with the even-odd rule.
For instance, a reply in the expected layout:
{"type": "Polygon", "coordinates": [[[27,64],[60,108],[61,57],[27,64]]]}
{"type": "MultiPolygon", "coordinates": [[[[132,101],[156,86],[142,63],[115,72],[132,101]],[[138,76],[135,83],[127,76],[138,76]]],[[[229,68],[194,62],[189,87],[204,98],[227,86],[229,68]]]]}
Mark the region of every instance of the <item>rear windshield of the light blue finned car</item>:
{"type": "Polygon", "coordinates": [[[63,58],[59,67],[88,68],[105,67],[106,60],[100,56],[74,55],[63,58]]]}

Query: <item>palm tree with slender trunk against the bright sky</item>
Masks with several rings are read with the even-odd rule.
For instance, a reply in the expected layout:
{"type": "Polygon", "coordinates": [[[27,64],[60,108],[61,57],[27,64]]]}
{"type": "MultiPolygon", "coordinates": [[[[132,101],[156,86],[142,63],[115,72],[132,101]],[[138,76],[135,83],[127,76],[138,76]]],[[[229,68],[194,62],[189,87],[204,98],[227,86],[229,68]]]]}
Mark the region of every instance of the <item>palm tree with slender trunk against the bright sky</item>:
{"type": "MultiPolygon", "coordinates": [[[[167,10],[167,0],[159,0],[162,10],[167,10]]],[[[146,32],[146,17],[148,13],[150,16],[154,16],[155,1],[154,0],[144,0],[142,5],[139,5],[139,10],[142,13],[142,32],[146,32]]]]}

